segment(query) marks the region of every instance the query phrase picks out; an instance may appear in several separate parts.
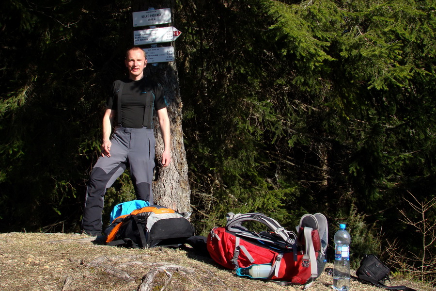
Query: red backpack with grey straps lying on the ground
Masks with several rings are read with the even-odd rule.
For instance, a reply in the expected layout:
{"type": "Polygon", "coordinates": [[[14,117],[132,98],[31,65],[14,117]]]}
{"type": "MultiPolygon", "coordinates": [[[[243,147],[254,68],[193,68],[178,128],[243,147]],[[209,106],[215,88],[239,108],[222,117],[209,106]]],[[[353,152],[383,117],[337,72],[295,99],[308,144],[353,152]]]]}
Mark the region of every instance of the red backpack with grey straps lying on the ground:
{"type": "MultiPolygon", "coordinates": [[[[323,223],[327,227],[327,220],[323,223]]],[[[318,227],[317,218],[311,214],[301,218],[296,235],[261,213],[229,213],[226,226],[215,227],[209,233],[207,249],[212,259],[234,269],[236,275],[253,277],[247,269],[266,264],[270,265],[269,272],[260,278],[309,286],[325,264],[325,248],[321,249],[318,227]],[[260,222],[268,231],[249,231],[242,225],[247,221],[260,222]]]]}

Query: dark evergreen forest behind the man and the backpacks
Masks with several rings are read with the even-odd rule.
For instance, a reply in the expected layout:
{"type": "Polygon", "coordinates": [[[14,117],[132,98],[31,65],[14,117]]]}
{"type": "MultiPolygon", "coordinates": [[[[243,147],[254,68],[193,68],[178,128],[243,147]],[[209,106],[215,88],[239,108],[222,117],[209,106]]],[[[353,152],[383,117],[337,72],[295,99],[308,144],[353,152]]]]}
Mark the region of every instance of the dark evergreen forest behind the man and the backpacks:
{"type": "MultiPolygon", "coordinates": [[[[1,232],[79,231],[138,2],[1,1],[1,232]]],[[[330,238],[347,224],[353,261],[435,283],[435,1],[172,8],[197,232],[229,211],[288,229],[322,212],[330,238]]],[[[125,173],[105,212],[132,197],[125,173]]]]}

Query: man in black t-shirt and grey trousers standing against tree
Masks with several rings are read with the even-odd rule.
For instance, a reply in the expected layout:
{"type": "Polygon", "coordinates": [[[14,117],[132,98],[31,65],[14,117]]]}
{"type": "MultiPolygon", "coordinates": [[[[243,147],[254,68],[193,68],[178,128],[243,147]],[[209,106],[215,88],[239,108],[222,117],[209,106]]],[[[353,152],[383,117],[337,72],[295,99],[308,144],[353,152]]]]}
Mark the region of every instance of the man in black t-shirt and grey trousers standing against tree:
{"type": "Polygon", "coordinates": [[[88,182],[82,229],[88,235],[102,232],[102,211],[106,190],[130,166],[138,199],[153,204],[152,178],[155,167],[153,113],[157,112],[164,142],[162,166],[171,162],[170,119],[160,85],[144,76],[145,52],[133,47],[126,52],[126,80],[113,82],[103,117],[101,157],[95,163],[88,182]],[[112,123],[116,127],[112,138],[112,123]]]}

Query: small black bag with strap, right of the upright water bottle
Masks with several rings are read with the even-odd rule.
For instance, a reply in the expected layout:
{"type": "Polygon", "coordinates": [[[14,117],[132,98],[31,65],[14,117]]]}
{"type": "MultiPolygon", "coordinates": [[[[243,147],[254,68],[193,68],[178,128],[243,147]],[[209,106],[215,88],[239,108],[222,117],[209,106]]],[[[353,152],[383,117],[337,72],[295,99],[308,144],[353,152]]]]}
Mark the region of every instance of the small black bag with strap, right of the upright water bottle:
{"type": "Polygon", "coordinates": [[[383,264],[376,256],[367,255],[360,262],[360,266],[356,271],[356,277],[359,281],[364,283],[371,283],[377,287],[385,288],[388,290],[405,290],[405,291],[416,291],[412,288],[400,285],[400,286],[387,286],[384,284],[386,280],[389,281],[390,269],[385,264],[383,264]]]}

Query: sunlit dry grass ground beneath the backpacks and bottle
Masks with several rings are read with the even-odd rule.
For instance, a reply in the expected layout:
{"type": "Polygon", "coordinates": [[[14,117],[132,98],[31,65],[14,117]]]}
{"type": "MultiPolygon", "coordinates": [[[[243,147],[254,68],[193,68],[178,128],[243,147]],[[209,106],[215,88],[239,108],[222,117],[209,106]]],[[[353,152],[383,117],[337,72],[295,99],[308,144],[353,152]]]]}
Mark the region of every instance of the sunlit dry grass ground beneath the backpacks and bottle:
{"type": "MultiPolygon", "coordinates": [[[[279,286],[238,277],[189,248],[116,248],[93,244],[91,238],[81,234],[0,234],[1,291],[133,291],[139,289],[148,271],[162,265],[170,271],[156,275],[152,290],[302,290],[301,286],[279,286]]],[[[309,290],[331,291],[331,281],[331,276],[324,272],[309,290]]],[[[411,282],[392,283],[416,290],[432,290],[411,282]]],[[[351,289],[381,290],[357,281],[352,281],[351,289]]]]}

